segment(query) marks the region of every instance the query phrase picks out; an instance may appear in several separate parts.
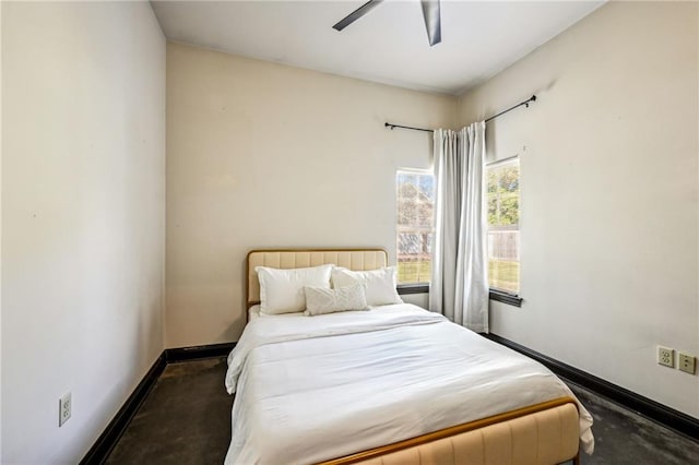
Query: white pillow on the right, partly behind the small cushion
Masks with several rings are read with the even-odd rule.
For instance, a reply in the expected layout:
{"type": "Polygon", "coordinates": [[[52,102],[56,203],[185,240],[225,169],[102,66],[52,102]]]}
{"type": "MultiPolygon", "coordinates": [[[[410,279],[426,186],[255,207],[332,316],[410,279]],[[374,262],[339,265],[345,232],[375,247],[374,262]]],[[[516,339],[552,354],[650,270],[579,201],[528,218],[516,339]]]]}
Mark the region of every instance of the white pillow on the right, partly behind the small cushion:
{"type": "Polygon", "coordinates": [[[403,303],[395,290],[395,266],[379,270],[353,272],[347,269],[332,269],[332,284],[335,289],[362,284],[365,286],[367,303],[386,306],[403,303]]]}

